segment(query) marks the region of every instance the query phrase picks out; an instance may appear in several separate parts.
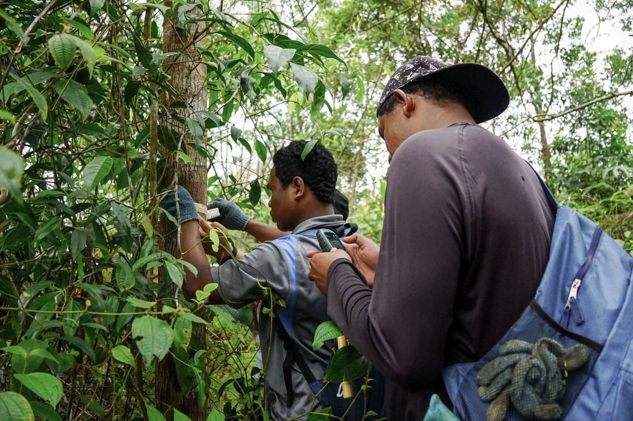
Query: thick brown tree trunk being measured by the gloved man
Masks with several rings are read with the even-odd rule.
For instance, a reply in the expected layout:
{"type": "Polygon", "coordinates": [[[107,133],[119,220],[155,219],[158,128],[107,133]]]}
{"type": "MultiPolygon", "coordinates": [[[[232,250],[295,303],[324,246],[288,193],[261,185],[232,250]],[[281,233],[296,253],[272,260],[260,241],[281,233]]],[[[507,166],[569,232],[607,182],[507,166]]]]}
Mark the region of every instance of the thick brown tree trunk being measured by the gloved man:
{"type": "MultiPolygon", "coordinates": [[[[194,3],[190,1],[189,3],[194,3]]],[[[170,4],[168,4],[170,6],[170,4]]],[[[200,9],[193,8],[191,15],[201,14],[200,9]]],[[[163,24],[163,52],[179,52],[163,61],[163,68],[171,79],[167,83],[172,88],[173,94],[161,91],[160,99],[169,113],[161,118],[161,122],[182,133],[180,142],[194,143],[187,126],[180,123],[172,116],[178,116],[182,121],[191,117],[194,111],[204,110],[208,104],[206,90],[206,64],[196,47],[206,47],[206,35],[203,22],[191,23],[191,27],[184,29],[173,18],[165,19],[163,24]],[[185,107],[171,107],[173,102],[184,102],[185,107]]],[[[205,133],[206,135],[206,133],[205,133]]],[[[204,139],[204,137],[203,137],[204,139]]],[[[207,162],[195,150],[187,147],[186,153],[192,161],[185,164],[179,161],[177,154],[165,148],[161,151],[165,159],[165,173],[162,178],[163,186],[181,185],[186,188],[194,202],[206,204],[207,194],[207,162]]],[[[206,215],[201,215],[206,217],[206,215]]],[[[165,217],[161,217],[160,231],[163,235],[161,247],[168,253],[179,254],[179,239],[173,224],[165,217]]],[[[194,323],[192,328],[191,346],[202,347],[205,343],[205,330],[202,324],[194,323]]],[[[195,351],[195,350],[194,350],[195,351]]],[[[204,384],[197,387],[204,387],[204,384]]],[[[203,421],[204,412],[197,404],[196,387],[188,390],[179,384],[176,375],[176,367],[173,358],[168,354],[156,367],[156,405],[168,420],[173,418],[170,408],[177,408],[187,415],[192,421],[203,421]]]]}

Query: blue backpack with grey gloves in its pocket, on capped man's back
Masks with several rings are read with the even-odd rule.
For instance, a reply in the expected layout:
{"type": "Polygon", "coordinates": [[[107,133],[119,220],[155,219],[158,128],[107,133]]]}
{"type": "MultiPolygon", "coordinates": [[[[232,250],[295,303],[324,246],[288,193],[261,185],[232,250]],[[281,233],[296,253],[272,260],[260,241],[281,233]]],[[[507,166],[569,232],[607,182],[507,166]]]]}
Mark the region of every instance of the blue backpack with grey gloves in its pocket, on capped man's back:
{"type": "Polygon", "coordinates": [[[541,284],[481,360],[443,370],[453,413],[470,421],[633,420],[633,258],[541,185],[556,211],[541,284]]]}

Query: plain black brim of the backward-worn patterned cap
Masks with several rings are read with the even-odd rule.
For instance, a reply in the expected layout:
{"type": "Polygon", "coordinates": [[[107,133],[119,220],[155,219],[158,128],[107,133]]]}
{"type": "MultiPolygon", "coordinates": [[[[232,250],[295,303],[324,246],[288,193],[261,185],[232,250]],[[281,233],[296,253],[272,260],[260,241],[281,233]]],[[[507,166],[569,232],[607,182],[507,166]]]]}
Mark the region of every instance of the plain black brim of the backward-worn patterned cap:
{"type": "Polygon", "coordinates": [[[510,104],[508,88],[499,76],[486,66],[460,63],[422,76],[417,80],[451,83],[470,99],[470,114],[477,124],[495,118],[510,104]]]}

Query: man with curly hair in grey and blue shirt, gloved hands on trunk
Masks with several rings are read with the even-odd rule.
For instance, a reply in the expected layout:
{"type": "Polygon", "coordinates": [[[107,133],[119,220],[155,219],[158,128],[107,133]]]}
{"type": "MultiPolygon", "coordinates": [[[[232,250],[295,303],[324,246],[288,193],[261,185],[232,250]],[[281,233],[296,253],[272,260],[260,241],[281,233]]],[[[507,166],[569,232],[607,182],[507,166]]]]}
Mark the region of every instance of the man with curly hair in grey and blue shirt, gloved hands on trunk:
{"type": "MultiPolygon", "coordinates": [[[[305,159],[301,159],[306,142],[292,142],[279,149],[273,157],[268,188],[271,190],[270,214],[282,231],[292,231],[274,241],[265,241],[249,253],[234,250],[237,264],[228,260],[209,270],[200,227],[210,226],[199,221],[191,196],[179,188],[179,212],[175,197],[169,192],[161,206],[174,216],[180,214],[180,247],[182,259],[197,269],[197,276],[185,269],[187,279],[183,292],[187,298],[196,296],[206,284],[216,283],[208,302],[242,307],[261,300],[260,342],[264,365],[266,412],[273,420],[304,420],[310,411],[322,410],[315,400],[299,357],[307,363],[315,379],[322,379],[331,351],[327,347],[312,350],[316,327],[329,320],[327,300],[308,279],[306,251],[318,247],[311,236],[301,235],[316,228],[336,229],[344,224],[334,214],[334,186],[337,168],[332,154],[316,143],[305,159]],[[274,312],[273,322],[270,312],[274,312]],[[292,351],[284,349],[283,336],[292,341],[292,351]],[[294,353],[299,355],[294,355],[294,353]],[[284,367],[286,366],[286,367],[284,367]]],[[[225,223],[244,228],[249,218],[235,207],[225,223]]],[[[209,251],[209,250],[207,250],[209,251]]],[[[226,257],[217,255],[216,257],[226,257]]]]}

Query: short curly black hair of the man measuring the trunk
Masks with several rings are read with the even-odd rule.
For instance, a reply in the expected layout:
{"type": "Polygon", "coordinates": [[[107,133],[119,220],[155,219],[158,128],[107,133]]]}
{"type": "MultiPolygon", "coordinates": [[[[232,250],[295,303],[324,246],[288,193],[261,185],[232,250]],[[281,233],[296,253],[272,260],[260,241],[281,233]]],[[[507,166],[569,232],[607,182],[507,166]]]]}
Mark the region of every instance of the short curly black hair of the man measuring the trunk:
{"type": "Polygon", "coordinates": [[[284,188],[295,177],[301,177],[320,202],[333,204],[338,177],[334,156],[320,142],[316,142],[306,159],[301,159],[307,143],[304,140],[295,140],[277,150],[273,156],[275,175],[284,188]]]}

